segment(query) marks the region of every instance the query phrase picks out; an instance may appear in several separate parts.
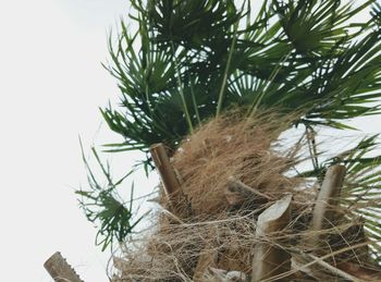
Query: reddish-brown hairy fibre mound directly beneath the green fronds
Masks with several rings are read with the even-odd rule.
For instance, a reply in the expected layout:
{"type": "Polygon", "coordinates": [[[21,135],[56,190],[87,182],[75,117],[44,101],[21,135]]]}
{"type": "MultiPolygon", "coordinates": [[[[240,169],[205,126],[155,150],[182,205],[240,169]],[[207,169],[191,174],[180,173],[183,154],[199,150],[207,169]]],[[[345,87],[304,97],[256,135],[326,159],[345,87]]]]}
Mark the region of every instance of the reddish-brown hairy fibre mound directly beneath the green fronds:
{"type": "Polygon", "coordinates": [[[239,112],[231,112],[185,139],[173,165],[194,213],[210,217],[224,210],[231,176],[269,197],[295,187],[298,180],[283,175],[294,160],[273,148],[286,125],[290,119],[274,113],[244,119],[239,112]]]}

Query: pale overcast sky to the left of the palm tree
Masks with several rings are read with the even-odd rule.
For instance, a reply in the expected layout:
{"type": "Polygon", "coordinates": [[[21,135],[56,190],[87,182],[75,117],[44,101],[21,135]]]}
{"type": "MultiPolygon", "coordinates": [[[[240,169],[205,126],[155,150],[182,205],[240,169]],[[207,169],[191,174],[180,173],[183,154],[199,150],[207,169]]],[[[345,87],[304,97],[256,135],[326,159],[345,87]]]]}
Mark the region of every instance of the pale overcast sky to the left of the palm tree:
{"type": "MultiPolygon", "coordinates": [[[[85,281],[107,281],[109,253],[94,245],[74,189],[86,184],[78,135],[86,148],[120,140],[98,111],[118,94],[100,62],[127,2],[0,0],[1,281],[51,281],[42,263],[56,250],[85,281]]],[[[377,132],[379,121],[361,123],[377,132]]],[[[132,158],[113,157],[119,171],[132,158]]]]}

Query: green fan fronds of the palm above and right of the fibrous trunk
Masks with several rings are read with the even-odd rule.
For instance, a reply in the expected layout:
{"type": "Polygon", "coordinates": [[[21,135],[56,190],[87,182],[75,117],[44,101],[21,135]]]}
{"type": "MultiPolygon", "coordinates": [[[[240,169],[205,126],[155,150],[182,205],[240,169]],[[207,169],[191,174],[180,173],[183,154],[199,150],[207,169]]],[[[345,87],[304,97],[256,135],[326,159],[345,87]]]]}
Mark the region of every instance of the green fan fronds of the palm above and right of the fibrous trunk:
{"type": "MultiPolygon", "coordinates": [[[[322,181],[342,163],[343,207],[365,220],[373,241],[381,237],[379,157],[369,157],[378,135],[334,157],[320,154],[319,128],[355,130],[348,121],[380,113],[381,7],[374,0],[131,0],[130,20],[116,42],[110,36],[106,68],[119,82],[120,107],[101,109],[109,127],[123,136],[109,151],[140,150],[163,143],[170,154],[206,121],[239,108],[245,117],[275,111],[293,114],[284,130],[308,138],[311,169],[300,177],[322,181]],[[370,16],[355,22],[370,10],[370,16]],[[359,196],[362,195],[362,196],[359,196]],[[368,205],[372,203],[373,205],[368,205]]],[[[360,128],[357,128],[360,130],[360,128]]],[[[374,154],[372,155],[374,156],[374,154]]],[[[86,196],[83,194],[83,196],[86,196]]],[[[130,226],[130,225],[128,225],[130,226]]],[[[130,231],[130,230],[128,230],[130,231]]],[[[126,235],[127,233],[124,233],[126,235]]],[[[119,241],[122,241],[120,237],[119,241]]],[[[373,258],[380,262],[380,252],[373,258]]]]}

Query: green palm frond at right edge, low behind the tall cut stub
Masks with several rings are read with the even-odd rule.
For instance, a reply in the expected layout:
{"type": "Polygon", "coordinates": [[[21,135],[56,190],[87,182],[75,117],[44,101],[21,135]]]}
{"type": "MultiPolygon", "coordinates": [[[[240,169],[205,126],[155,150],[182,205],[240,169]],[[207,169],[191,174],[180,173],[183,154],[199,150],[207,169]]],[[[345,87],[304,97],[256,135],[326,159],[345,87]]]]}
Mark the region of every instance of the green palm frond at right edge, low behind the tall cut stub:
{"type": "MultiPolygon", "coordinates": [[[[323,160],[317,169],[299,174],[322,182],[328,168],[344,164],[346,176],[341,205],[349,211],[346,217],[364,220],[365,231],[372,242],[381,238],[381,156],[374,156],[379,150],[379,137],[378,134],[365,137],[353,148],[323,160]]],[[[377,259],[381,263],[381,256],[377,259]]]]}

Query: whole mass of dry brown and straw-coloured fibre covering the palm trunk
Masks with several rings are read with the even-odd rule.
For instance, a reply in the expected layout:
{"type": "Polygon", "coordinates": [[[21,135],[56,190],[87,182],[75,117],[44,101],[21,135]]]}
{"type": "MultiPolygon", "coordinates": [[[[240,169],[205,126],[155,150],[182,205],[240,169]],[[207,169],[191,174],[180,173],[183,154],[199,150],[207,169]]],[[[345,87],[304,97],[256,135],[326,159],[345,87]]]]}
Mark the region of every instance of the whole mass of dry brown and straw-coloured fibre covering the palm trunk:
{"type": "MultiPolygon", "coordinates": [[[[212,269],[249,277],[253,249],[263,242],[291,254],[293,269],[283,281],[340,277],[320,261],[311,263],[309,253],[305,253],[305,238],[316,235],[308,226],[317,191],[300,188],[307,182],[290,176],[302,145],[281,151],[279,136],[291,122],[292,117],[280,118],[272,112],[246,119],[239,111],[232,111],[185,138],[172,156],[184,194],[181,208],[171,210],[168,197],[161,193],[162,209],[157,213],[155,230],[140,238],[137,248],[124,250],[115,263],[119,272],[113,281],[220,281],[213,278],[212,269]],[[253,193],[237,192],[237,183],[253,193]],[[294,195],[290,224],[282,232],[258,238],[258,216],[286,193],[294,195]]],[[[362,267],[368,262],[362,225],[345,220],[345,212],[337,207],[342,220],[318,231],[325,244],[317,255],[330,258],[333,269],[343,263],[362,267]],[[356,244],[361,245],[361,252],[351,248],[356,244]]],[[[316,254],[314,249],[308,252],[316,254]]]]}

